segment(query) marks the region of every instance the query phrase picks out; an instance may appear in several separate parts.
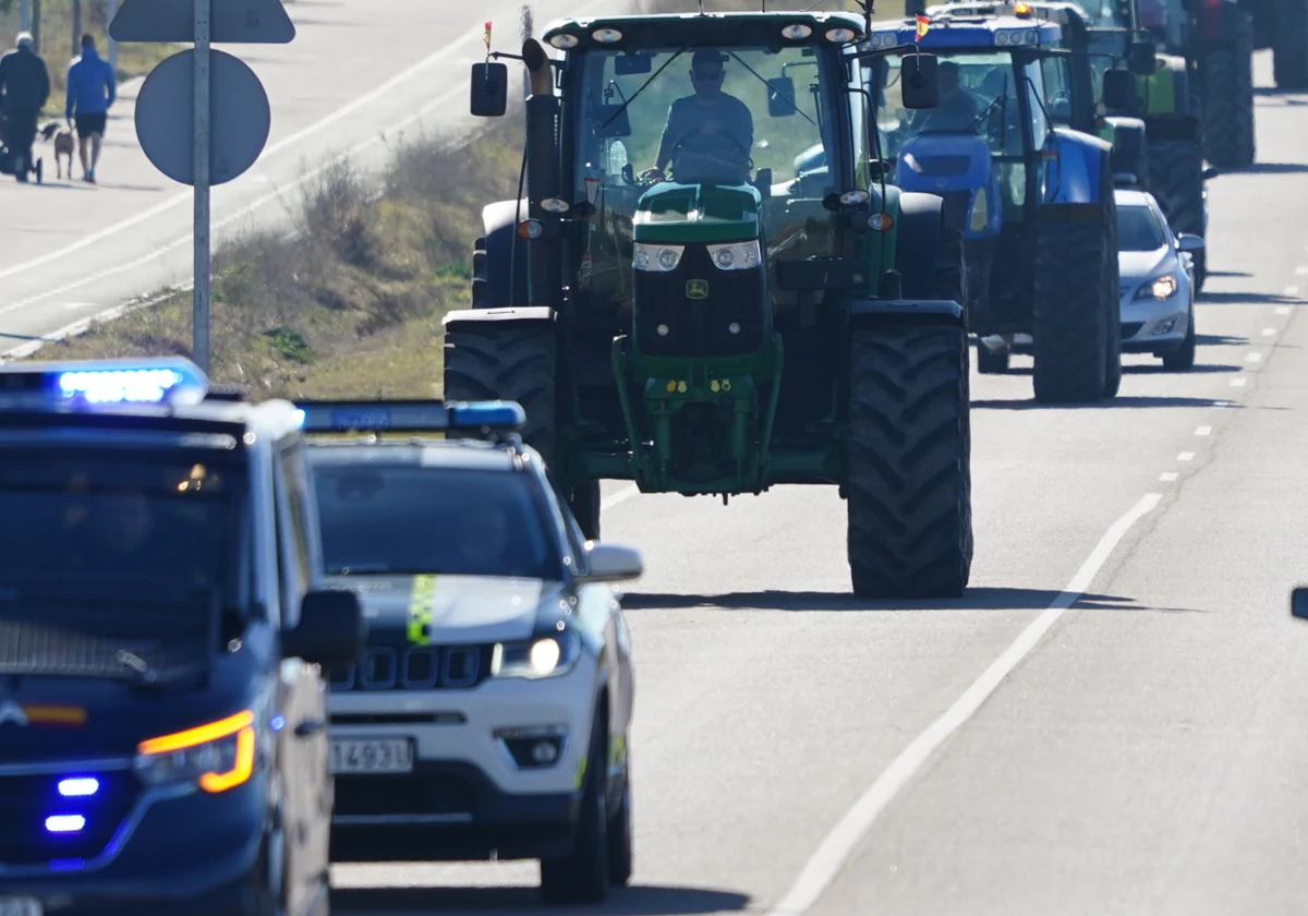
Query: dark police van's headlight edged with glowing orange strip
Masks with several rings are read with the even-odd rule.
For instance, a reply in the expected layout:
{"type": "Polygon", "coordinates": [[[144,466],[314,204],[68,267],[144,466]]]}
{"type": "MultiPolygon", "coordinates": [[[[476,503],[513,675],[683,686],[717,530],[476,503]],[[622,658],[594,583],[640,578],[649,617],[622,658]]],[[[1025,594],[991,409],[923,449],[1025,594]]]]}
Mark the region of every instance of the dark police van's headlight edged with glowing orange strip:
{"type": "Polygon", "coordinates": [[[143,741],[132,763],[146,785],[195,783],[226,792],[254,771],[254,713],[249,709],[208,725],[143,741]]]}

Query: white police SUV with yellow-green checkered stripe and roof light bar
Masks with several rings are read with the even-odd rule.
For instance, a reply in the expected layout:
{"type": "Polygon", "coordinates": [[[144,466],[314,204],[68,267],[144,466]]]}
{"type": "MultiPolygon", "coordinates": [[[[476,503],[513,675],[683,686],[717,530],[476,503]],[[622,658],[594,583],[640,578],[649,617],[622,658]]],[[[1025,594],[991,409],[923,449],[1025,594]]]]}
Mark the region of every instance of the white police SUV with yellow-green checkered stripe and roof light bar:
{"type": "Polygon", "coordinates": [[[328,586],[354,589],[362,661],[332,679],[332,861],[540,860],[548,903],[632,872],[630,641],[615,582],[515,436],[511,402],[301,403],[328,586]],[[446,431],[445,440],[407,433],[446,431]],[[390,431],[395,438],[317,438],[390,431]]]}

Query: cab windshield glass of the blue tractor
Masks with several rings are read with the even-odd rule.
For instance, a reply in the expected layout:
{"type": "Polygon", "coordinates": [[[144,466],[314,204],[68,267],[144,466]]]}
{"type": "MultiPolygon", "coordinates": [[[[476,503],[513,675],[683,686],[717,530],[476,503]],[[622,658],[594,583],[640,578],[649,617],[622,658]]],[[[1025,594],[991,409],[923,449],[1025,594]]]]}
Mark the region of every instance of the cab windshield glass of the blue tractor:
{"type": "MultiPolygon", "coordinates": [[[[939,51],[940,103],[910,111],[900,96],[900,59],[872,68],[872,98],[886,158],[897,161],[909,140],[926,135],[980,137],[990,150],[1005,196],[1005,219],[1023,217],[1028,150],[1042,145],[1049,124],[1037,102],[1044,86],[1039,63],[1019,64],[1003,51],[939,51]]],[[[961,147],[960,147],[961,148],[961,147]]]]}

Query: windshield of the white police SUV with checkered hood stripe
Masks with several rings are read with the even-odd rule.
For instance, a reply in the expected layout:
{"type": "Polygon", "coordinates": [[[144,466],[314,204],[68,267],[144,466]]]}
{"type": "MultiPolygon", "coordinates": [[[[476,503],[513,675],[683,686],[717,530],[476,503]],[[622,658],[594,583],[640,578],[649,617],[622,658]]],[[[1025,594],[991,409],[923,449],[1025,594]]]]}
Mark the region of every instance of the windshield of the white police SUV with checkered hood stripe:
{"type": "Polygon", "coordinates": [[[331,576],[561,577],[525,475],[315,462],[314,479],[331,576]]]}

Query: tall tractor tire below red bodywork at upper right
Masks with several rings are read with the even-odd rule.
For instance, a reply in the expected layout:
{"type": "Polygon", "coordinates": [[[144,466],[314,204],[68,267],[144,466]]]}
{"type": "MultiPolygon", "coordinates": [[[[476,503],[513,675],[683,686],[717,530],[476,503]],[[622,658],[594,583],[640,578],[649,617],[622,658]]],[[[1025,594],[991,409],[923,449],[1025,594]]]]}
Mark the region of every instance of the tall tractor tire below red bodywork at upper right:
{"type": "Polygon", "coordinates": [[[1219,169],[1247,169],[1256,156],[1253,20],[1243,9],[1231,12],[1230,42],[1203,55],[1203,156],[1219,169]]]}

